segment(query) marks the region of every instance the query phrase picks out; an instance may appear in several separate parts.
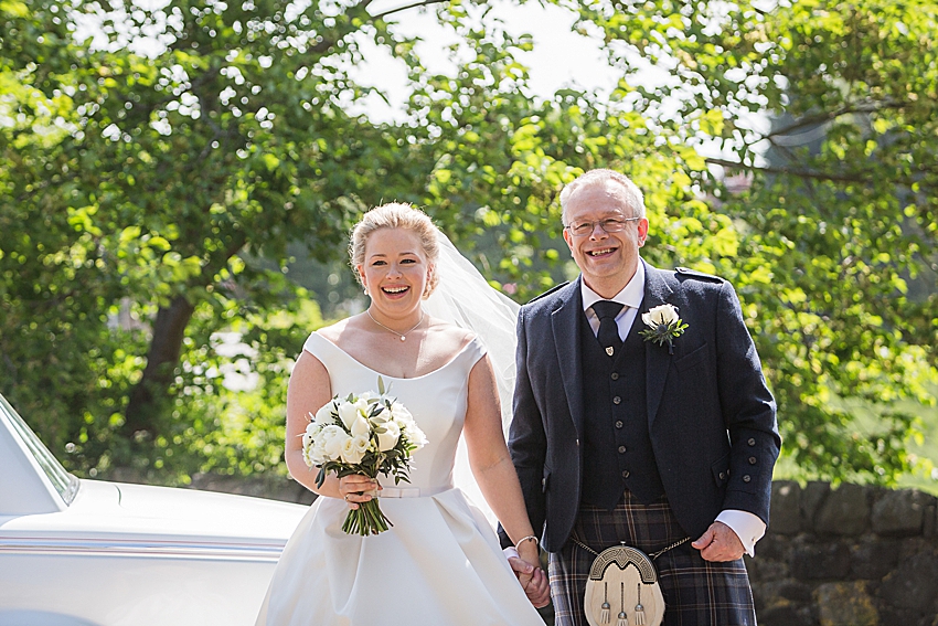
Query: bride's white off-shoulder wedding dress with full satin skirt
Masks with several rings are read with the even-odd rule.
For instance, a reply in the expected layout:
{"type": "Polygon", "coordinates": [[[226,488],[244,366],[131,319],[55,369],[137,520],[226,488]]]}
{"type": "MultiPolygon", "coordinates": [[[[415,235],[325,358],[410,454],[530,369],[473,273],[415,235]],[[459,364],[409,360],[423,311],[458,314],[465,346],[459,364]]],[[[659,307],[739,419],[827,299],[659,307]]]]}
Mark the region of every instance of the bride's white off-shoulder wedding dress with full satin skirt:
{"type": "Polygon", "coordinates": [[[413,379],[380,374],[316,332],[303,349],[339,396],[376,392],[381,375],[428,443],[414,454],[409,484],[380,477],[381,509],[394,524],[386,532],[345,534],[345,502],[313,502],[280,556],[258,626],[543,626],[484,514],[452,486],[469,372],[486,353],[479,339],[413,379]]]}

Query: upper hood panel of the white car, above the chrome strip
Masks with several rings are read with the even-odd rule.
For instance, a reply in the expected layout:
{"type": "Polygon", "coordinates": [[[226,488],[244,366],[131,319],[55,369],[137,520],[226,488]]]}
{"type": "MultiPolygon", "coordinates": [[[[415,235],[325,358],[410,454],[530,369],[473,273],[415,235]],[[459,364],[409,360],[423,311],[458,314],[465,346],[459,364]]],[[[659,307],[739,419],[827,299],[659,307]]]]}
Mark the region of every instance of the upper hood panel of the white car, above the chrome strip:
{"type": "Polygon", "coordinates": [[[0,534],[283,547],[308,508],[248,496],[82,480],[66,510],[7,520],[0,534]]]}

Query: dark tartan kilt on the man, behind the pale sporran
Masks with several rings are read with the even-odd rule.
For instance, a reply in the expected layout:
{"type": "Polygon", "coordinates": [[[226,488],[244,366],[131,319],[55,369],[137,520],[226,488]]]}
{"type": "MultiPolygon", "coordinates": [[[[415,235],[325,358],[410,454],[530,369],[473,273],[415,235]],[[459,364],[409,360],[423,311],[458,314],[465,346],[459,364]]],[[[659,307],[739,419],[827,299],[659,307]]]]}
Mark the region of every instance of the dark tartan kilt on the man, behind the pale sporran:
{"type": "MultiPolygon", "coordinates": [[[[625,541],[651,554],[687,535],[667,498],[646,506],[626,491],[611,511],[582,505],[573,537],[596,552],[625,541]]],[[[555,626],[588,626],[583,598],[595,558],[569,540],[550,555],[555,626]]],[[[664,626],[755,626],[753,592],[742,559],[711,563],[686,542],[661,554],[654,566],[664,595],[664,626]]]]}

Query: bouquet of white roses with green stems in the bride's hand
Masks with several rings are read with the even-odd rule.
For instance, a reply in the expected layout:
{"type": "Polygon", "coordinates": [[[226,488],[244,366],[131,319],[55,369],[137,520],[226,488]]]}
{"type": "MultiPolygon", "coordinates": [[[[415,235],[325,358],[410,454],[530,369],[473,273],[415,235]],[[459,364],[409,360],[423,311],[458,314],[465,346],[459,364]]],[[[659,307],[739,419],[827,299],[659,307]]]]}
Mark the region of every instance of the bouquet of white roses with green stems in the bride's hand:
{"type": "MultiPolygon", "coordinates": [[[[302,435],[303,460],[318,466],[316,486],[321,487],[328,471],[339,478],[360,474],[377,478],[393,475],[394,482],[409,482],[411,455],[427,443],[407,409],[385,393],[384,381],[377,379],[379,393],[333,397],[322,409],[310,413],[302,435]]],[[[377,534],[394,526],[381,511],[377,498],[360,502],[350,510],[342,524],[349,534],[377,534]]]]}

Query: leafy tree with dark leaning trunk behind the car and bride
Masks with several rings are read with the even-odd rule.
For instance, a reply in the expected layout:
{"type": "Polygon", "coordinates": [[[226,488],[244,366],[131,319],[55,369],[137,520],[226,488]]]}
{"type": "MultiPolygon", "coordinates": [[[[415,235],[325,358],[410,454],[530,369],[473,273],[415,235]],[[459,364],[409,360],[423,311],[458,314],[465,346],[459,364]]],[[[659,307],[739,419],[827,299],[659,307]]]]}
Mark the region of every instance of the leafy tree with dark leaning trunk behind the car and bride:
{"type": "Polygon", "coordinates": [[[513,56],[530,41],[484,8],[438,7],[463,42],[443,76],[369,4],[0,4],[3,386],[74,466],[190,473],[178,450],[211,445],[231,402],[220,331],[283,389],[318,323],[283,273],[289,244],[340,257],[355,216],[397,199],[457,241],[504,224],[523,268],[540,253],[522,244],[558,233],[551,200],[579,167],[564,157],[662,162],[649,136],[598,138],[628,121],[586,94],[531,98],[513,56]],[[88,19],[100,32],[78,41],[88,19]],[[349,113],[364,40],[409,67],[405,121],[349,113]]]}

